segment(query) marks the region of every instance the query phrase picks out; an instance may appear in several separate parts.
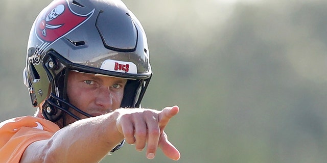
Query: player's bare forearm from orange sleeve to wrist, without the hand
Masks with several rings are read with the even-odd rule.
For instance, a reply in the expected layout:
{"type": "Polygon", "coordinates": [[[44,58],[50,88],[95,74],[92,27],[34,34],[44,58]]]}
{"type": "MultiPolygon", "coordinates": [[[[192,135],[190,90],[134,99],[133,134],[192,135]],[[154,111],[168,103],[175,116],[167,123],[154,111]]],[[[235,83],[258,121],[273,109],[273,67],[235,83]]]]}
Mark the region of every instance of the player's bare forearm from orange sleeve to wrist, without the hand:
{"type": "Polygon", "coordinates": [[[62,128],[49,140],[31,144],[21,162],[98,162],[124,138],[113,112],[87,118],[62,128]]]}

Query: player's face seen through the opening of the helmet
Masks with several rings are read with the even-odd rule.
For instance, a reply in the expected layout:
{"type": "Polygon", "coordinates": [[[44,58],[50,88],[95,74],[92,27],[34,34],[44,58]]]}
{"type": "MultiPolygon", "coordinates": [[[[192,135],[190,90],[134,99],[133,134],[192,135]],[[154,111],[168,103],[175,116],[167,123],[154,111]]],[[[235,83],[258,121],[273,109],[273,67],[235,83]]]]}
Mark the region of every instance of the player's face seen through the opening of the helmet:
{"type": "MultiPolygon", "coordinates": [[[[96,76],[71,71],[68,74],[67,95],[69,102],[91,116],[99,116],[119,108],[124,95],[127,79],[96,76]]],[[[75,110],[71,112],[80,118],[86,118],[75,110]]],[[[66,116],[66,123],[76,121],[66,116]]]]}

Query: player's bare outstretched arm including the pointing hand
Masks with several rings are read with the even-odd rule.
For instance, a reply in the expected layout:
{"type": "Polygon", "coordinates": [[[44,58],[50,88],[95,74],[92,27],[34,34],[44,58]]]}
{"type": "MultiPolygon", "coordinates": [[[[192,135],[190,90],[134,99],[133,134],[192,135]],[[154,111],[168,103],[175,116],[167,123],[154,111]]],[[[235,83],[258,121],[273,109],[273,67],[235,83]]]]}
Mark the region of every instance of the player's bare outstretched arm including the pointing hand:
{"type": "Polygon", "coordinates": [[[148,143],[147,157],[153,158],[157,146],[172,158],[179,159],[178,150],[167,140],[164,128],[179,108],[162,111],[118,109],[102,116],[74,122],[49,140],[32,143],[20,162],[98,162],[124,137],[142,150],[148,143]]]}

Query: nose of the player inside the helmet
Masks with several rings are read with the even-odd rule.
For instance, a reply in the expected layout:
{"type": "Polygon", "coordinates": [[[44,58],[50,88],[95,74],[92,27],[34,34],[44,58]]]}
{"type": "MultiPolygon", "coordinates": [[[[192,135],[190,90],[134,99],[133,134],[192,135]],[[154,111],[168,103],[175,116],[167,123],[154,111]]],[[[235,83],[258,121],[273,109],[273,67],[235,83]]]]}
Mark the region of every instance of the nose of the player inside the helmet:
{"type": "Polygon", "coordinates": [[[100,106],[101,110],[112,110],[113,96],[108,87],[101,88],[95,98],[95,104],[100,106]]]}

